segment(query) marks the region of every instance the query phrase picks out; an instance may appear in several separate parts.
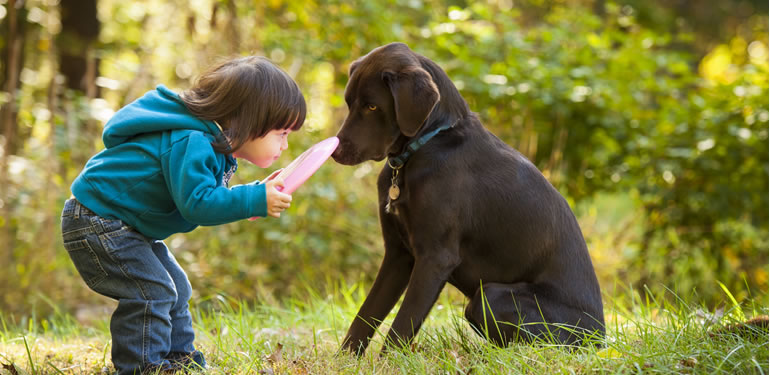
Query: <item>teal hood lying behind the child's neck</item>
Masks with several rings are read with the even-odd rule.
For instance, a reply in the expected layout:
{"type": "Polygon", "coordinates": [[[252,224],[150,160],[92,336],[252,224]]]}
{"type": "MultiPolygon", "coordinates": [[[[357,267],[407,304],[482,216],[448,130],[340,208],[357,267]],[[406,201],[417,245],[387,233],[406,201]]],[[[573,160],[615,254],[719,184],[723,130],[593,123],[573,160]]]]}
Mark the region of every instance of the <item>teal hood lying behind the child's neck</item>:
{"type": "Polygon", "coordinates": [[[179,94],[158,85],[116,112],[104,125],[102,141],[111,148],[139,134],[183,129],[202,131],[215,138],[221,134],[213,121],[193,116],[179,94]]]}

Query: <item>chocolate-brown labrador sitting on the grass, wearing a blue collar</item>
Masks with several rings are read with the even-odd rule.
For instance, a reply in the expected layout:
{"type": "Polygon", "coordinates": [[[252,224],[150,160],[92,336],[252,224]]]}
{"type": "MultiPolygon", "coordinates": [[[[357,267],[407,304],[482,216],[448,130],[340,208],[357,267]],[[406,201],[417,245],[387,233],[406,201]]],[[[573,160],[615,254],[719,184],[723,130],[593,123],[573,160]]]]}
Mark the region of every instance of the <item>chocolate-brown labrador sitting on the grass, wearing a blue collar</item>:
{"type": "Polygon", "coordinates": [[[385,256],[344,349],[363,354],[405,290],[383,349],[409,343],[447,282],[498,345],[603,337],[599,283],[569,205],[436,63],[402,43],[376,48],[351,64],[345,101],[334,160],[388,162],[377,182],[385,256]]]}

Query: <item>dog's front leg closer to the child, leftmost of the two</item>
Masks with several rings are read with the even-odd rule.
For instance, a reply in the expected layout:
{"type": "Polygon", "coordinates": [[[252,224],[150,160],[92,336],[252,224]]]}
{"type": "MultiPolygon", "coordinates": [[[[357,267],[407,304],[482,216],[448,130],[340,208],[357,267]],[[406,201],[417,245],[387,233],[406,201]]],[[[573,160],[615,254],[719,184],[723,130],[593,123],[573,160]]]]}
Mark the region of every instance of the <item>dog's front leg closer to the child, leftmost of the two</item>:
{"type": "Polygon", "coordinates": [[[414,264],[414,258],[406,249],[387,245],[388,241],[385,257],[372,289],[342,343],[343,349],[357,355],[364,353],[374,331],[401,297],[414,264]]]}

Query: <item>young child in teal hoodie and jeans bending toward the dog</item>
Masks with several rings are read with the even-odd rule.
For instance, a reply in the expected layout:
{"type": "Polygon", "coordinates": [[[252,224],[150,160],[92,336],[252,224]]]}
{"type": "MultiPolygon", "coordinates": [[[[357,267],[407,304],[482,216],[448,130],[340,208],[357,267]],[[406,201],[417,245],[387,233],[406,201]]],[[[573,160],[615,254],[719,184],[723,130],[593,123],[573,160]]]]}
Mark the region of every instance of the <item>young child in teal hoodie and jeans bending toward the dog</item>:
{"type": "Polygon", "coordinates": [[[269,167],[305,121],[297,84],[269,60],[219,64],[177,95],[159,85],[104,127],[105,149],[72,183],[64,247],[86,284],[114,298],[118,374],[204,368],[193,346],[184,270],[163,243],[174,233],[255,216],[280,217],[291,196],[270,175],[228,187],[236,158],[269,167]]]}

